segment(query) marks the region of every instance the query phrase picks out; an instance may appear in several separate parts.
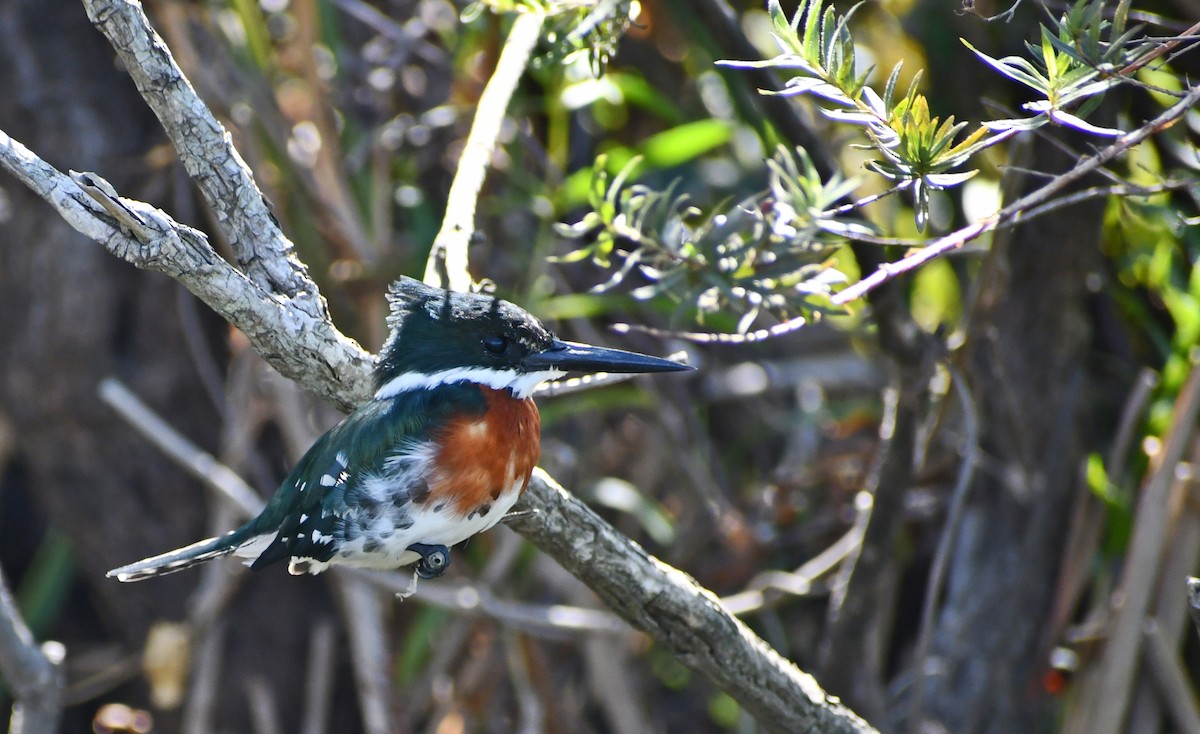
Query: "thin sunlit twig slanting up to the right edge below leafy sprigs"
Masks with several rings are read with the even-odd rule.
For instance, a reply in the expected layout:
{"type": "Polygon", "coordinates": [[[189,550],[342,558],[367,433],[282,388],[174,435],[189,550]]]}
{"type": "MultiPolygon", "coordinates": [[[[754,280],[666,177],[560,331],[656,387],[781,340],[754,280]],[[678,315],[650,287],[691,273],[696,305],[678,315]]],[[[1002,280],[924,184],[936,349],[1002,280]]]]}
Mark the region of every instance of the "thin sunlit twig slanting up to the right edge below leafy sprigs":
{"type": "Polygon", "coordinates": [[[1128,132],[1120,138],[1117,138],[1111,145],[1104,148],[1094,156],[1090,156],[1080,161],[1075,168],[1061,174],[1054,181],[1050,181],[1045,186],[1037,188],[1028,194],[1016,199],[1008,206],[1001,209],[990,217],[976,222],[968,227],[964,227],[956,231],[953,231],[943,237],[934,240],[925,247],[913,252],[912,254],[905,257],[904,259],[896,260],[895,263],[884,263],[880,267],[854,283],[850,288],[838,293],[833,296],[833,302],[835,305],[844,305],[862,297],[866,291],[877,288],[880,284],[890,281],[892,278],[908,272],[919,265],[932,260],[934,258],[946,254],[947,252],[959,248],[962,245],[974,240],[982,234],[996,229],[997,225],[1006,222],[1016,223],[1024,219],[1026,210],[1034,209],[1049,201],[1051,198],[1057,195],[1064,188],[1082,179],[1084,176],[1096,172],[1102,168],[1124,151],[1129,150],[1134,145],[1141,143],[1146,138],[1154,136],[1171,125],[1174,125],[1180,118],[1182,118],[1189,109],[1192,109],[1196,102],[1200,102],[1200,85],[1193,86],[1188,90],[1188,94],[1176,102],[1174,106],[1168,108],[1163,114],[1158,115],[1146,125],[1142,125],[1138,130],[1128,132]]]}

